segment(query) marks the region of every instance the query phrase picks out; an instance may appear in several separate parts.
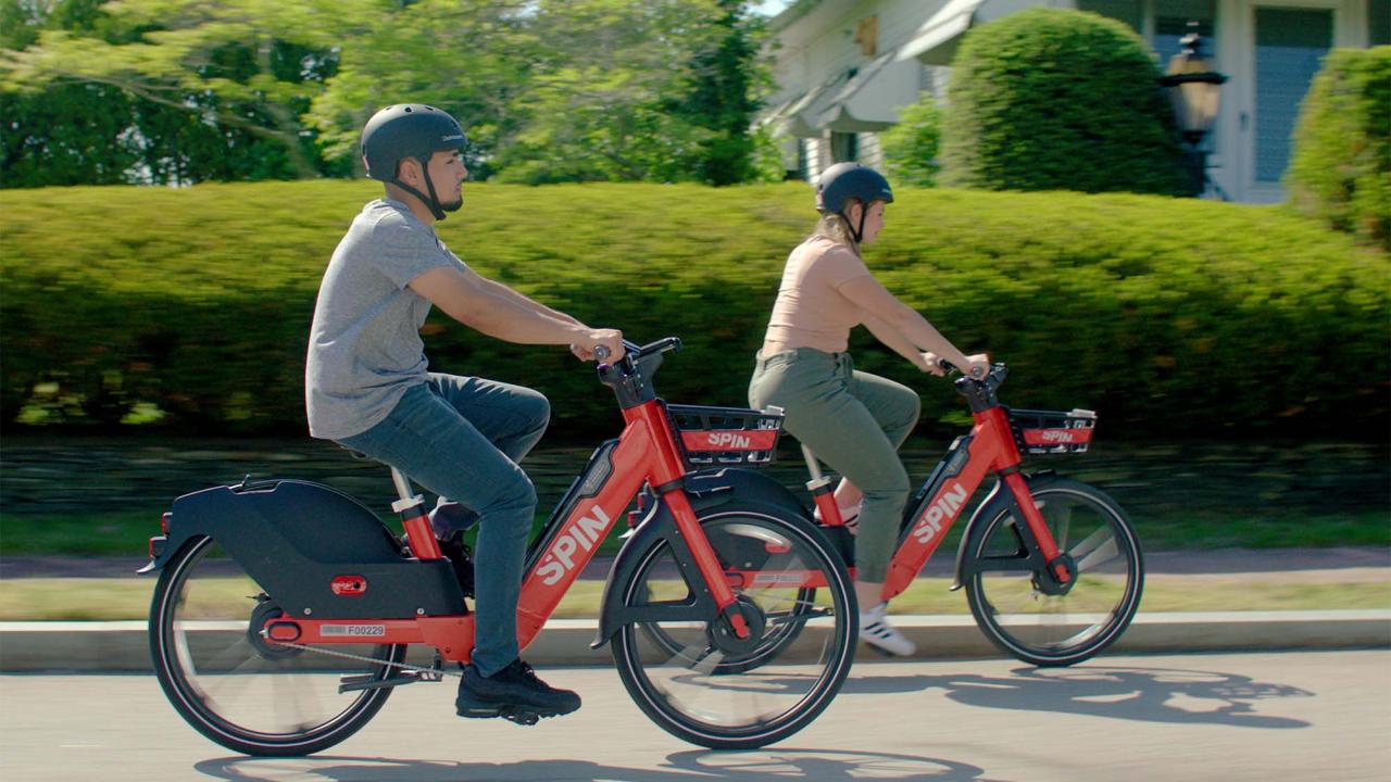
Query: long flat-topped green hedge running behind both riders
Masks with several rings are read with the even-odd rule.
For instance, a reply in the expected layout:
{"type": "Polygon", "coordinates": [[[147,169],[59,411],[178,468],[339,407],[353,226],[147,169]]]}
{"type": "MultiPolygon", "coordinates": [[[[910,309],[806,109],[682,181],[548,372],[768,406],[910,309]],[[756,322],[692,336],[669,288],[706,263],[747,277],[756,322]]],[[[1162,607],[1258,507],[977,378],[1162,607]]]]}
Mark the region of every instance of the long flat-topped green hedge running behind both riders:
{"type": "MultiPolygon", "coordinates": [[[[4,420],[149,417],[202,433],[305,430],[314,294],[371,182],[0,193],[4,420]]],[[[470,185],[441,235],[481,273],[638,341],[687,351],[672,401],[740,405],[801,184],[470,185]]],[[[1280,209],[1155,196],[901,189],[879,278],[1013,376],[1017,406],[1095,408],[1117,436],[1387,431],[1385,257],[1280,209]]],[[[551,397],[565,434],[613,431],[593,372],[433,316],[433,366],[551,397]]],[[[857,365],[964,410],[857,333],[857,365]]]]}

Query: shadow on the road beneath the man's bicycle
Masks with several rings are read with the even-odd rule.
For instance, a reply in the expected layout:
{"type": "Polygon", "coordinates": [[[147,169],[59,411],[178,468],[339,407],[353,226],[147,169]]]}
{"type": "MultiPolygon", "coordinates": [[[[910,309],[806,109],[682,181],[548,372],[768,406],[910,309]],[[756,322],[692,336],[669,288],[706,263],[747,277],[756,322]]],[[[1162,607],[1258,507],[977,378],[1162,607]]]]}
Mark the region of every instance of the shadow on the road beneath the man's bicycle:
{"type": "Polygon", "coordinates": [[[314,756],[305,758],[214,758],[193,767],[227,782],[1000,782],[983,769],[950,760],[896,753],[764,749],[719,753],[691,750],[666,756],[657,768],[605,765],[587,760],[517,763],[441,763],[385,757],[314,756]]]}

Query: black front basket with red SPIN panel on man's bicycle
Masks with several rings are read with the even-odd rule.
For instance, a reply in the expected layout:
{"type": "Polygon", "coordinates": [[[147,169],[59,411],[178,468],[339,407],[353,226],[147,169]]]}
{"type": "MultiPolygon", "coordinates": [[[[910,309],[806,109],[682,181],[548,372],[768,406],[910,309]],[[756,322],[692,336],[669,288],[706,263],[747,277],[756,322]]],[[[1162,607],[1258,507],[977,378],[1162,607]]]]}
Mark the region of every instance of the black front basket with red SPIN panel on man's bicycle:
{"type": "Polygon", "coordinates": [[[782,412],[666,405],[682,455],[693,468],[766,465],[778,458],[782,412]]]}

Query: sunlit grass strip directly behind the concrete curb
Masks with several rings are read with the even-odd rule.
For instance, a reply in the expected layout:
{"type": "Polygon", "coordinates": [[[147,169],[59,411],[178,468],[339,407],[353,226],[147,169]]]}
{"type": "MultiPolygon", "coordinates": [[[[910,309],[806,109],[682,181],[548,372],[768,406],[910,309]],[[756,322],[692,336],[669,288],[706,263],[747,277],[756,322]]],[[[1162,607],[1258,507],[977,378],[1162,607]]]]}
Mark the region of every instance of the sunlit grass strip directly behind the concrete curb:
{"type": "MultiPolygon", "coordinates": [[[[206,587],[202,611],[227,615],[245,603],[246,587],[225,579],[206,587]]],[[[946,579],[918,579],[892,604],[894,614],[968,614],[965,596],[949,591],[946,579]]],[[[154,579],[19,579],[0,582],[0,621],[146,619],[154,579]]],[[[576,582],[554,616],[597,615],[604,583],[576,582]]],[[[1391,582],[1289,583],[1212,576],[1155,579],[1145,587],[1141,611],[1299,611],[1391,608],[1391,582]]]]}

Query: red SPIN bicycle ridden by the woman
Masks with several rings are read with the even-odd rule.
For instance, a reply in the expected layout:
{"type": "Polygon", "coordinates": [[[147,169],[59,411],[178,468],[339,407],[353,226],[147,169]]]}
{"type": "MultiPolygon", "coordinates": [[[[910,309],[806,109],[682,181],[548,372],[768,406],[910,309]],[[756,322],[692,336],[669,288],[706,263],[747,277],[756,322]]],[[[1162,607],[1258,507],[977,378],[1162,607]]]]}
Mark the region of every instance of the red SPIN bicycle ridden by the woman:
{"type": "MultiPolygon", "coordinates": [[[[1000,650],[1034,665],[1071,665],[1114,643],[1135,616],[1145,582],[1139,538],[1103,491],[1052,470],[1020,470],[1021,452],[1086,451],[1096,413],[1006,408],[996,390],[1007,374],[996,363],[982,380],[956,380],[975,426],[947,448],[907,504],[883,600],[908,589],[986,474],[995,473],[999,481],[961,536],[951,589],[965,587],[976,625],[1000,650]]],[[[822,529],[853,562],[854,538],[832,481],[807,447],[803,454],[822,529]]]]}

